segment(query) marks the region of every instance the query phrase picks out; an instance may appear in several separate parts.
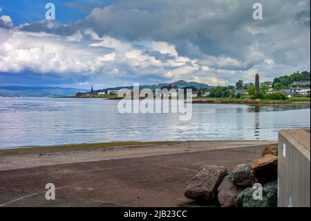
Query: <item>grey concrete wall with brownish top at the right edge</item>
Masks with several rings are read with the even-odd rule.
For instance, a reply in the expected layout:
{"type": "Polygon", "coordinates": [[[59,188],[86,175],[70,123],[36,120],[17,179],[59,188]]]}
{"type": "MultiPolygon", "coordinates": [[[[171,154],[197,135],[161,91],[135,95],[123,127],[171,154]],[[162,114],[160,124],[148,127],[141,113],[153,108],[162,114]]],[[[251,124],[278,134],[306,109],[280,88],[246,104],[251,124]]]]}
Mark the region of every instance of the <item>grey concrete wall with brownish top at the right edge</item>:
{"type": "Polygon", "coordinates": [[[279,132],[279,207],[310,207],[310,128],[279,132]]]}

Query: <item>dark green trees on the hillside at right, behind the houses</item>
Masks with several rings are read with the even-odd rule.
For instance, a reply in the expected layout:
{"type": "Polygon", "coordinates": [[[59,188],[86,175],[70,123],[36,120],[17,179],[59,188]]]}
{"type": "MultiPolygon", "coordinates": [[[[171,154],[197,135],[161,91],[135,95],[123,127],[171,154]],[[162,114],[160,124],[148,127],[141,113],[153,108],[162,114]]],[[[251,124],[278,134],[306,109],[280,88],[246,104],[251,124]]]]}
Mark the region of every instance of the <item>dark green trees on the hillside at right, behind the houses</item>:
{"type": "MultiPolygon", "coordinates": [[[[294,86],[294,82],[299,82],[301,80],[310,80],[310,71],[294,72],[290,76],[281,76],[279,78],[274,78],[272,87],[275,90],[286,89],[294,86]]],[[[309,86],[309,85],[305,85],[309,86]]]]}

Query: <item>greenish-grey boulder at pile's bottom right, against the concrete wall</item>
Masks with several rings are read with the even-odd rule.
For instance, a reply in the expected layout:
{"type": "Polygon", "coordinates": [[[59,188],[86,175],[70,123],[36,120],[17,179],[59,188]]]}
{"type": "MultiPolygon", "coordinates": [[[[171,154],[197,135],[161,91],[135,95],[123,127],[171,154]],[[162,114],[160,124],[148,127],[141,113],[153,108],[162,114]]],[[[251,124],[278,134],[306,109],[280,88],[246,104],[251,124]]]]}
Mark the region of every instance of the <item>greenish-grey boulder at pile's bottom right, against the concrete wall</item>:
{"type": "Polygon", "coordinates": [[[262,199],[254,200],[256,188],[248,187],[243,192],[243,207],[274,207],[277,204],[277,181],[263,185],[262,199]]]}

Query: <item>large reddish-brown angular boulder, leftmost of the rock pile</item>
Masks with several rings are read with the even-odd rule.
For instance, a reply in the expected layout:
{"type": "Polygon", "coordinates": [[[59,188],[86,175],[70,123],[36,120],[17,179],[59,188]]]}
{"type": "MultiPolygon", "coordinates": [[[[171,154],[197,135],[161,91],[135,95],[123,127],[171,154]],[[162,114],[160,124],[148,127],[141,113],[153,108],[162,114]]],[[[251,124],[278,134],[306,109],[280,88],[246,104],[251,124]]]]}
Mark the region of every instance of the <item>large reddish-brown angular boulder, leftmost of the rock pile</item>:
{"type": "Polygon", "coordinates": [[[227,168],[223,166],[203,166],[188,182],[185,196],[201,202],[216,200],[217,188],[227,174],[227,168]]]}

